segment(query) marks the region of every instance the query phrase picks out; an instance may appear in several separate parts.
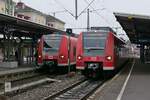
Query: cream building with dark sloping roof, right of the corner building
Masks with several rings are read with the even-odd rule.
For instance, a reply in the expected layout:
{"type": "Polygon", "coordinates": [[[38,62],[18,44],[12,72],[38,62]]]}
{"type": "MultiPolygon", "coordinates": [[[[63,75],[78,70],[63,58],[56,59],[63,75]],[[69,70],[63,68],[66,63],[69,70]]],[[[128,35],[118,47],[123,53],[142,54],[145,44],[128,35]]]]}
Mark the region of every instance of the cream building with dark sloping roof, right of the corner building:
{"type": "Polygon", "coordinates": [[[53,16],[44,14],[36,9],[33,9],[23,2],[18,2],[15,9],[15,16],[30,20],[35,23],[47,25],[52,28],[64,30],[65,23],[53,16]]]}

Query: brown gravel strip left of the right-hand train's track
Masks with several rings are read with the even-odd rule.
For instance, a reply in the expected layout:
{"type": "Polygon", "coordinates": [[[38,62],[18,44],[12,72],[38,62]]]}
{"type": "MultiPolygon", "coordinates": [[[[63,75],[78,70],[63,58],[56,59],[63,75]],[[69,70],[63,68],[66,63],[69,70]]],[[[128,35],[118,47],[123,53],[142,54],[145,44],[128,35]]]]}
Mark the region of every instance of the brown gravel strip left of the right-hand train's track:
{"type": "Polygon", "coordinates": [[[41,100],[55,92],[58,92],[71,84],[83,79],[83,76],[76,74],[74,77],[67,77],[66,75],[56,76],[55,79],[61,82],[53,82],[49,84],[40,85],[34,89],[28,90],[21,94],[9,97],[9,100],[41,100]]]}

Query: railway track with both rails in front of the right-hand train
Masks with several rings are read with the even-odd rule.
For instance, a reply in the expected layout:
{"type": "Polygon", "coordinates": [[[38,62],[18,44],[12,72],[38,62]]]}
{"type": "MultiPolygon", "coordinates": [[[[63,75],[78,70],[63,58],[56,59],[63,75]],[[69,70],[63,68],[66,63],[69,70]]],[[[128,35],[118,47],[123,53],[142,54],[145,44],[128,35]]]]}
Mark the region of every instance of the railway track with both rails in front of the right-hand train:
{"type": "Polygon", "coordinates": [[[83,80],[42,100],[85,100],[104,82],[83,80]]]}

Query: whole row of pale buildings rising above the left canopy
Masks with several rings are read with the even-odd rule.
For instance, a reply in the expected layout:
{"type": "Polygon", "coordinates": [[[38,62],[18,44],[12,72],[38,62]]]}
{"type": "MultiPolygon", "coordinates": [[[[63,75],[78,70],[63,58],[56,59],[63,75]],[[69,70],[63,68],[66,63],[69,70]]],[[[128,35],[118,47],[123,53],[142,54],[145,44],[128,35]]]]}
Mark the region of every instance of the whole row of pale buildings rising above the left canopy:
{"type": "Polygon", "coordinates": [[[64,30],[65,23],[51,15],[33,9],[23,2],[15,3],[12,0],[0,0],[0,13],[16,16],[38,24],[64,30]]]}

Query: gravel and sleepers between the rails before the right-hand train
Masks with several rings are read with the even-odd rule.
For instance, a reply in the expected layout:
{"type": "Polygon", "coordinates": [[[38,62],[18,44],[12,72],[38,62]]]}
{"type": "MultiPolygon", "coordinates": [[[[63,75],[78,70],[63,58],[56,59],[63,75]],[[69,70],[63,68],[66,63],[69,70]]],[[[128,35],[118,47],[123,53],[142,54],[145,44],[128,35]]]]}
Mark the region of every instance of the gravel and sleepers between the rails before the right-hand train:
{"type": "Polygon", "coordinates": [[[102,83],[102,81],[84,81],[80,85],[55,97],[53,100],[85,100],[86,96],[93,93],[102,83]]]}

